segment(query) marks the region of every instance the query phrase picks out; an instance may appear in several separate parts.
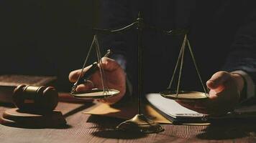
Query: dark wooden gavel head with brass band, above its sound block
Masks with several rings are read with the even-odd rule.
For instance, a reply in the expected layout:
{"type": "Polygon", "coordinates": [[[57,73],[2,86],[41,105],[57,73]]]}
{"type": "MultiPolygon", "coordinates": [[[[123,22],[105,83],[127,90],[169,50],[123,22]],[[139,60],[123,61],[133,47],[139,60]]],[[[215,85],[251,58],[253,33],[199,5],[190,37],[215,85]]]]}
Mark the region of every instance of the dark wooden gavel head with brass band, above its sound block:
{"type": "Polygon", "coordinates": [[[13,101],[21,110],[50,112],[58,104],[58,92],[54,87],[21,84],[14,89],[13,101]]]}

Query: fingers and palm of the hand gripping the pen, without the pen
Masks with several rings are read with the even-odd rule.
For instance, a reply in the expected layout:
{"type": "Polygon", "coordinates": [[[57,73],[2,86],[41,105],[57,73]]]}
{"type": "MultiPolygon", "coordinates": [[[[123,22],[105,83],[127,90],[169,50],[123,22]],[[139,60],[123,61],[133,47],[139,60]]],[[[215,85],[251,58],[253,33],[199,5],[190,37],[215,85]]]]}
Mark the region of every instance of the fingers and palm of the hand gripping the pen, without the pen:
{"type": "MultiPolygon", "coordinates": [[[[85,69],[83,69],[83,73],[85,73],[90,66],[87,66],[85,69]]],[[[105,73],[105,79],[104,85],[106,87],[109,87],[110,89],[117,89],[120,91],[120,93],[114,97],[109,97],[106,99],[100,99],[99,102],[104,102],[107,104],[114,104],[119,101],[119,99],[122,99],[124,96],[124,93],[126,92],[126,74],[122,67],[113,59],[109,59],[106,57],[102,58],[102,69],[104,69],[105,73]]],[[[76,71],[71,71],[69,74],[69,80],[70,82],[76,82],[79,74],[81,73],[81,69],[78,69],[76,71]]],[[[82,74],[83,75],[83,74],[82,74]]],[[[93,88],[102,88],[101,85],[101,75],[100,71],[96,71],[91,78],[89,79],[91,82],[86,82],[84,84],[78,85],[76,88],[77,92],[91,90],[93,88]]]]}

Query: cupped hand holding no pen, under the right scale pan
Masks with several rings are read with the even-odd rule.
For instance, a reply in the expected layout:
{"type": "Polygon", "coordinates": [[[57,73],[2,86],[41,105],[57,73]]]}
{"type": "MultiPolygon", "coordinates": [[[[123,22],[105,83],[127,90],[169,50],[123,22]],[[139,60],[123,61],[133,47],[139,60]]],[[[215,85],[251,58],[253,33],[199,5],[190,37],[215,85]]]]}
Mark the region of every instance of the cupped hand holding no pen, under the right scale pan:
{"type": "Polygon", "coordinates": [[[201,101],[177,100],[176,102],[183,105],[183,107],[204,114],[225,114],[232,111],[239,102],[244,80],[239,74],[218,71],[206,82],[206,85],[210,89],[209,99],[201,101]]]}

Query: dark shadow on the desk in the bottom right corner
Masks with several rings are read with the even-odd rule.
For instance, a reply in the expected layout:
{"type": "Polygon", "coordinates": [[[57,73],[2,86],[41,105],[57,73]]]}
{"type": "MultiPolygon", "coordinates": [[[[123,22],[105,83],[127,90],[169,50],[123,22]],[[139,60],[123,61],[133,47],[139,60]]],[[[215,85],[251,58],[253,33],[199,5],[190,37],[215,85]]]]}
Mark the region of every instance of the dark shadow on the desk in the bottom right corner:
{"type": "Polygon", "coordinates": [[[232,121],[214,122],[197,137],[199,139],[238,139],[252,135],[256,137],[255,119],[233,119],[232,121]]]}

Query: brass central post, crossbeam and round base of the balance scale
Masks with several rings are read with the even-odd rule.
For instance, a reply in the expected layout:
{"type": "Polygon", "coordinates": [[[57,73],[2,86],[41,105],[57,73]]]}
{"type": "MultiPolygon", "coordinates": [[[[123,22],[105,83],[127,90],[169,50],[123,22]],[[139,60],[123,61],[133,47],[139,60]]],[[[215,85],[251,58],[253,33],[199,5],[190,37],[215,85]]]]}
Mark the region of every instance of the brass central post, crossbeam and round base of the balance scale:
{"type": "Polygon", "coordinates": [[[115,29],[115,30],[108,30],[108,29],[93,29],[97,33],[101,34],[118,34],[123,33],[124,31],[127,31],[133,27],[136,27],[137,34],[138,34],[138,114],[136,114],[132,119],[129,119],[125,122],[122,122],[119,124],[116,128],[124,131],[131,131],[131,132],[142,132],[142,133],[157,133],[157,132],[163,132],[163,127],[160,126],[160,124],[157,124],[153,122],[150,119],[147,119],[144,114],[142,114],[142,96],[143,96],[143,88],[142,88],[142,31],[143,29],[151,29],[155,31],[159,31],[163,34],[168,35],[178,35],[178,34],[186,34],[186,29],[175,29],[170,31],[165,31],[163,29],[157,29],[153,26],[147,26],[142,16],[139,12],[138,18],[136,21],[134,21],[132,24],[129,24],[128,26],[124,26],[121,29],[115,29]]]}

